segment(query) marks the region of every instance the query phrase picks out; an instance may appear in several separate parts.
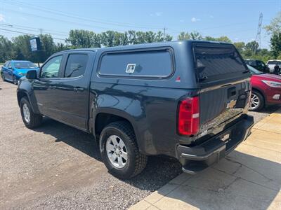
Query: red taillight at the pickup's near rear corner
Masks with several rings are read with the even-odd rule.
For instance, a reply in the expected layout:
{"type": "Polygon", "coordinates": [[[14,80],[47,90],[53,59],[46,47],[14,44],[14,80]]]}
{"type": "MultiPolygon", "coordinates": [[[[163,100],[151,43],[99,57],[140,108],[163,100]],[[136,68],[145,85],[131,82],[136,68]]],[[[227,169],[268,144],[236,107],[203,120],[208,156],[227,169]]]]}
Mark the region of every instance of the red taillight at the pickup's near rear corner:
{"type": "Polygon", "coordinates": [[[199,97],[192,97],[180,102],[178,109],[178,133],[182,135],[195,135],[200,125],[199,97]]]}

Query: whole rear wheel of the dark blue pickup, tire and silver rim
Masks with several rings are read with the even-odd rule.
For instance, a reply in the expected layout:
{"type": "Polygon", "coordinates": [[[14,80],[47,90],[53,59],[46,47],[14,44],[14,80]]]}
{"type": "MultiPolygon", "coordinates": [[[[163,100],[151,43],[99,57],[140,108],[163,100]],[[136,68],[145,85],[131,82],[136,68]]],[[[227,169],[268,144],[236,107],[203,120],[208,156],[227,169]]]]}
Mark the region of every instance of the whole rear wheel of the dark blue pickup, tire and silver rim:
{"type": "Polygon", "coordinates": [[[108,171],[119,179],[140,174],[148,158],[138,151],[136,136],[129,123],[107,125],[100,134],[100,153],[108,171]]]}

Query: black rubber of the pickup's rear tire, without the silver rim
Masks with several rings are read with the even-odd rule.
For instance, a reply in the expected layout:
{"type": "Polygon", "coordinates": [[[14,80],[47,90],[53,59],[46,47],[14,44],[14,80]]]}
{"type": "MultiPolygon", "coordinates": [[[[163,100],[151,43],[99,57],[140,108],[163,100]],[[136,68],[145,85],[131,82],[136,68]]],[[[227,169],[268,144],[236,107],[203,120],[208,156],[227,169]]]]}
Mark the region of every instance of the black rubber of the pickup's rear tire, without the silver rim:
{"type": "Polygon", "coordinates": [[[129,179],[140,174],[148,162],[148,157],[138,151],[136,136],[133,132],[133,129],[131,125],[125,121],[110,123],[103,129],[100,134],[100,153],[110,174],[119,179],[129,179]],[[126,146],[126,165],[121,169],[112,165],[112,162],[110,162],[107,156],[107,151],[105,148],[106,141],[108,137],[112,135],[120,137],[126,146]]]}

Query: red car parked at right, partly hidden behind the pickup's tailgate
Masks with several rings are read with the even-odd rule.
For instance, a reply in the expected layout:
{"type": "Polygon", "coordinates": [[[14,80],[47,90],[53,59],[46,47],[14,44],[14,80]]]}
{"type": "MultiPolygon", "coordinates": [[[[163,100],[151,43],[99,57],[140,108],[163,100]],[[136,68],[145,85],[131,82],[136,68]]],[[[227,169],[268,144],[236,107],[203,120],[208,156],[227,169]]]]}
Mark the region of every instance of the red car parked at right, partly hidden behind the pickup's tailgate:
{"type": "Polygon", "coordinates": [[[281,105],[281,76],[263,73],[248,65],[251,72],[250,111],[259,111],[266,105],[281,105]]]}

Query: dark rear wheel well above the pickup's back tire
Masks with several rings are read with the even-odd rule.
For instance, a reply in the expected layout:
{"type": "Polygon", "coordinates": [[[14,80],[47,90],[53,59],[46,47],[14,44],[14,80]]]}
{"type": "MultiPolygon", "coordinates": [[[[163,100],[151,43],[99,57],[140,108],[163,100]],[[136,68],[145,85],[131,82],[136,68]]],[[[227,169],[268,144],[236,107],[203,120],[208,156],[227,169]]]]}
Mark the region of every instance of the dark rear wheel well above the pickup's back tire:
{"type": "Polygon", "coordinates": [[[122,118],[120,116],[116,116],[110,113],[98,113],[95,120],[95,130],[94,130],[96,136],[98,137],[100,135],[100,133],[102,132],[103,128],[106,125],[117,121],[127,122],[133,130],[133,126],[131,125],[130,121],[127,120],[126,118],[122,118]]]}

